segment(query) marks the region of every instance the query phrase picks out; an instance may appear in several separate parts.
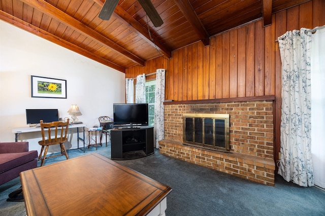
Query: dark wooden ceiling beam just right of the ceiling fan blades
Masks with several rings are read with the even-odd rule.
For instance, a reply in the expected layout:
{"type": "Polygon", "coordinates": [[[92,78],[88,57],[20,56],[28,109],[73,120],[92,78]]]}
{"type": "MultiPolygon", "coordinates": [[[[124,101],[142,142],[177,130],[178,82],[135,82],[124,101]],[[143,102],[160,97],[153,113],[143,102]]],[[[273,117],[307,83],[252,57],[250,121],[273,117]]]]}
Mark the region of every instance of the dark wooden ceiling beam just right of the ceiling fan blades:
{"type": "Polygon", "coordinates": [[[204,46],[210,45],[210,35],[205,27],[202,25],[197,13],[192,8],[188,0],[174,0],[179,10],[184,14],[187,21],[191,24],[194,31],[198,34],[204,46]]]}

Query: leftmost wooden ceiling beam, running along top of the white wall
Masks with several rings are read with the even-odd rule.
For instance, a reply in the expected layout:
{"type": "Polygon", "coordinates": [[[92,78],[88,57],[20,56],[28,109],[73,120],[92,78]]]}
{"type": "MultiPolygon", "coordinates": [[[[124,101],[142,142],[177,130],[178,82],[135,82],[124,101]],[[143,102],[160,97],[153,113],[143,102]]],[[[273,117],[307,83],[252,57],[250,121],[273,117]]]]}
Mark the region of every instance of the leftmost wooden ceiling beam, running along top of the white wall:
{"type": "Polygon", "coordinates": [[[96,62],[99,62],[99,63],[102,63],[103,65],[106,65],[108,67],[111,67],[115,70],[118,70],[118,71],[121,71],[123,73],[125,73],[125,68],[124,67],[121,67],[111,61],[108,61],[107,59],[104,59],[102,57],[99,57],[98,55],[95,55],[89,51],[86,51],[74,44],[71,44],[71,42],[67,41],[67,40],[63,40],[62,38],[60,37],[57,37],[53,34],[50,34],[49,32],[39,28],[39,27],[36,27],[34,25],[31,25],[23,20],[20,20],[18,19],[17,17],[14,17],[10,14],[7,14],[6,12],[4,11],[1,11],[0,10],[0,19],[9,23],[9,24],[12,24],[18,28],[21,28],[25,31],[28,31],[29,33],[32,33],[32,34],[35,34],[37,36],[40,36],[46,40],[49,40],[51,42],[53,42],[54,44],[57,44],[61,47],[64,47],[64,48],[67,48],[68,50],[71,50],[73,52],[76,52],[76,53],[79,53],[80,55],[82,56],[85,56],[89,59],[92,59],[96,62]]]}

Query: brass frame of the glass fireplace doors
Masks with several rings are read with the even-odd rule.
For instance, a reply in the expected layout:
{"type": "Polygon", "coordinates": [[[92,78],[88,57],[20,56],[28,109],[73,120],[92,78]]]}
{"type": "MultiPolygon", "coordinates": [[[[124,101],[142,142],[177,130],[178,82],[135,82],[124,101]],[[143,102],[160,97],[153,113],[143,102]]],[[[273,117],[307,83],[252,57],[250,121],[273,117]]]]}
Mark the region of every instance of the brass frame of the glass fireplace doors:
{"type": "MultiPolygon", "coordinates": [[[[211,127],[211,125],[210,125],[211,127]]],[[[189,133],[190,134],[190,133],[189,133]]],[[[198,135],[198,134],[197,134],[198,135]]],[[[196,146],[206,149],[212,149],[212,150],[218,150],[218,151],[230,151],[230,116],[229,114],[215,114],[215,113],[186,113],[183,114],[183,143],[184,145],[190,145],[190,146],[196,146]],[[192,135],[186,135],[186,119],[190,120],[192,119],[192,135]],[[197,121],[198,126],[196,127],[196,120],[202,119],[201,121],[197,121]],[[213,145],[207,144],[205,140],[205,119],[212,119],[212,140],[213,145]],[[224,121],[224,147],[218,146],[216,143],[216,121],[224,121]],[[202,129],[201,125],[202,124],[202,129]],[[196,133],[195,131],[199,130],[199,134],[202,133],[202,135],[199,135],[200,138],[196,139],[196,133]],[[201,138],[202,137],[202,138],[201,138]],[[191,139],[190,139],[191,138],[191,139]],[[191,141],[190,141],[191,140],[191,141]],[[197,142],[198,140],[202,140],[201,142],[197,142]]]]}

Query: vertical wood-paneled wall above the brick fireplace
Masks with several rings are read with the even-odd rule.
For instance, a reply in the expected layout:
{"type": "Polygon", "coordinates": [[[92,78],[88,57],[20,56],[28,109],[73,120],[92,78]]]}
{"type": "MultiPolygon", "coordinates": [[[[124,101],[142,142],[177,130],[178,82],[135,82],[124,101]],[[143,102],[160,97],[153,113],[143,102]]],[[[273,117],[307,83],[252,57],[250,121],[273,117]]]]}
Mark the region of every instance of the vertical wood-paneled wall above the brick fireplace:
{"type": "Polygon", "coordinates": [[[275,160],[280,151],[281,59],[277,37],[294,29],[325,25],[325,1],[313,0],[263,20],[176,50],[172,58],[126,69],[126,77],[166,68],[166,100],[191,101],[275,95],[275,160]]]}

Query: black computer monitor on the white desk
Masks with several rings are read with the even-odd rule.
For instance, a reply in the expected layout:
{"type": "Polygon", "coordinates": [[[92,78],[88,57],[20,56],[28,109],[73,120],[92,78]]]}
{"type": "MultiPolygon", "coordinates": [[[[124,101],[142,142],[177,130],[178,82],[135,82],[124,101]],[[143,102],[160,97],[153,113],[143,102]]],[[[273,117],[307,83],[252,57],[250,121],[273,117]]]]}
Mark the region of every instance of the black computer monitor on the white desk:
{"type": "Polygon", "coordinates": [[[27,124],[38,124],[41,119],[45,123],[58,121],[58,109],[26,109],[27,124]]]}

